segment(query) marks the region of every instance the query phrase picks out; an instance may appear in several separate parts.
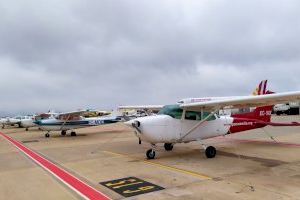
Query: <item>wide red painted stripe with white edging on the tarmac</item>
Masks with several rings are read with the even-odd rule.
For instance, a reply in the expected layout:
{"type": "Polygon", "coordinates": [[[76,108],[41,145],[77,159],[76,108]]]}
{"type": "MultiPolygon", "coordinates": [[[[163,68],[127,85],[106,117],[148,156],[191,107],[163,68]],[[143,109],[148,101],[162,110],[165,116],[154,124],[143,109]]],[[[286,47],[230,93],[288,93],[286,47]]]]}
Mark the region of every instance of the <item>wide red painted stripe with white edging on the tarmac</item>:
{"type": "Polygon", "coordinates": [[[60,181],[65,183],[67,186],[69,186],[72,190],[74,190],[76,193],[78,193],[80,196],[82,196],[85,199],[97,199],[97,200],[108,200],[106,195],[99,192],[98,190],[92,188],[88,184],[82,182],[75,176],[71,175],[64,169],[58,167],[54,163],[50,162],[49,160],[45,159],[41,155],[35,153],[34,151],[30,150],[29,148],[22,145],[20,142],[12,139],[11,137],[5,135],[4,133],[0,132],[0,135],[7,139],[10,143],[12,143],[15,147],[17,147],[20,151],[22,151],[25,155],[30,157],[34,162],[36,162],[38,165],[40,165],[42,168],[49,171],[51,174],[53,174],[56,178],[58,178],[60,181]]]}

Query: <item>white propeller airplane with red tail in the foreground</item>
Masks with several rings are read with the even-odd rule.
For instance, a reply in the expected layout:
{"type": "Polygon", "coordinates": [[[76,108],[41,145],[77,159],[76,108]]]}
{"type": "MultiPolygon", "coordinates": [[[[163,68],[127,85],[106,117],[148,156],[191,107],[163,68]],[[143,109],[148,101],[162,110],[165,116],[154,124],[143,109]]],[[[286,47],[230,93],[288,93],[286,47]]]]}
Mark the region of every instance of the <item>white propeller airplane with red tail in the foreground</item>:
{"type": "MultiPolygon", "coordinates": [[[[300,123],[271,122],[272,105],[299,101],[300,91],[260,96],[240,96],[204,102],[166,105],[158,115],[141,117],[125,122],[135,129],[140,141],[148,142],[152,148],[146,152],[148,159],[155,158],[156,144],[164,143],[171,151],[176,143],[189,143],[224,136],[231,133],[270,126],[299,126],[300,123]],[[224,108],[256,107],[252,112],[219,116],[224,108]]],[[[203,143],[202,143],[203,144],[203,143]]],[[[204,146],[207,158],[216,155],[216,148],[204,146]]]]}

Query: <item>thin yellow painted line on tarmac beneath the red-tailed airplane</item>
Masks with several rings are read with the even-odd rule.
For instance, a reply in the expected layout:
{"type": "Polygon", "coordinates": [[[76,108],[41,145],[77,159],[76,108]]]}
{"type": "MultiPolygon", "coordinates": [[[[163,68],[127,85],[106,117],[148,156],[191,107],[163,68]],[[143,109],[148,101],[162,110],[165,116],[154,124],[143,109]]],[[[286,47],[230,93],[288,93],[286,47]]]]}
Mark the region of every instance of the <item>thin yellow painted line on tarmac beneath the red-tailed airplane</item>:
{"type": "MultiPolygon", "coordinates": [[[[103,152],[108,153],[108,154],[112,154],[112,155],[115,155],[115,156],[122,156],[122,157],[138,159],[136,157],[129,156],[129,155],[126,155],[126,154],[120,154],[120,153],[111,152],[111,151],[103,151],[103,152]]],[[[164,165],[164,164],[161,164],[161,163],[147,161],[147,160],[142,160],[142,162],[146,163],[146,164],[149,164],[149,165],[154,165],[154,166],[157,166],[157,167],[161,167],[163,169],[167,169],[167,170],[171,170],[171,171],[175,171],[175,172],[180,172],[180,173],[183,173],[183,174],[188,174],[188,175],[191,175],[191,176],[194,176],[194,177],[197,177],[197,178],[201,178],[201,179],[204,179],[204,180],[211,180],[212,179],[212,177],[209,177],[207,175],[200,174],[200,173],[193,172],[193,171],[186,170],[186,169],[180,169],[180,168],[177,168],[177,167],[172,167],[172,166],[169,166],[169,165],[164,165]]]]}

